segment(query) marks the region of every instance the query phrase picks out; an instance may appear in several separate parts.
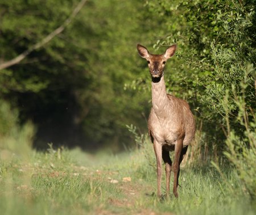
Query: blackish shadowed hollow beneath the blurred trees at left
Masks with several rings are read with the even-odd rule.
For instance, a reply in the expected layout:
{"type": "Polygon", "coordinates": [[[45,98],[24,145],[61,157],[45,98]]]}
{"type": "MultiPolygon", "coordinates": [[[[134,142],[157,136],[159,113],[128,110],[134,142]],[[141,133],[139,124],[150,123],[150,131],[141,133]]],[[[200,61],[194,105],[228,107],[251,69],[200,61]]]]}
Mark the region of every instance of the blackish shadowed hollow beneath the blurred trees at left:
{"type": "Polygon", "coordinates": [[[82,130],[75,123],[79,111],[70,91],[50,91],[41,95],[28,93],[19,98],[20,115],[36,125],[36,148],[45,149],[51,142],[55,146],[83,146],[82,130]]]}

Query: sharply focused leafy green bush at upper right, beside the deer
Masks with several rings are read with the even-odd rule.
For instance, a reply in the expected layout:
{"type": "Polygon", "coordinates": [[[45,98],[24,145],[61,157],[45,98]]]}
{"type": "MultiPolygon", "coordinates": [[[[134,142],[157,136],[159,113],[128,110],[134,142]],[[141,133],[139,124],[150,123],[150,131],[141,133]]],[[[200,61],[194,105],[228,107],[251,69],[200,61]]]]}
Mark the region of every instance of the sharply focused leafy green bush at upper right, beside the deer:
{"type": "MultiPolygon", "coordinates": [[[[215,117],[216,120],[216,117],[220,118],[219,114],[223,115],[225,112],[221,105],[225,91],[231,92],[232,84],[239,91],[239,83],[243,79],[247,63],[255,64],[254,38],[250,34],[254,28],[254,6],[243,6],[239,1],[214,0],[170,4],[170,7],[164,7],[164,3],[154,5],[155,10],[166,10],[171,17],[181,16],[176,18],[172,28],[168,28],[170,36],[157,44],[176,42],[179,45],[182,53],[177,57],[189,66],[187,70],[181,70],[187,73],[183,74],[183,79],[199,97],[200,109],[203,108],[205,112],[205,108],[210,108],[211,111],[203,113],[203,117],[215,117]]],[[[171,18],[169,22],[172,22],[171,18]]],[[[254,77],[253,74],[248,75],[248,91],[251,92],[254,90],[254,77]]],[[[179,84],[179,79],[177,83],[179,84]]],[[[248,93],[248,96],[248,102],[251,103],[254,100],[253,94],[248,93]]],[[[230,105],[230,111],[234,109],[236,107],[230,105]]]]}

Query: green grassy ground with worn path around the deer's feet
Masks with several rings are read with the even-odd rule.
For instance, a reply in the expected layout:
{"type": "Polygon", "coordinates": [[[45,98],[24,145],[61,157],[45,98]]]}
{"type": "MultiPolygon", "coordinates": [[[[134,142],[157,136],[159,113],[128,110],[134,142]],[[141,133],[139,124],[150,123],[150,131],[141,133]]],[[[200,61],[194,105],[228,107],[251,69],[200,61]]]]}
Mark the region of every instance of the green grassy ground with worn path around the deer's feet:
{"type": "MultiPolygon", "coordinates": [[[[10,154],[10,152],[8,152],[10,154]]],[[[163,192],[164,192],[163,174],[163,192]]],[[[184,167],[179,199],[156,197],[152,145],[118,155],[80,149],[2,156],[1,214],[255,214],[236,171],[184,167]],[[131,182],[122,182],[130,177],[131,182]],[[110,183],[112,180],[118,183],[110,183]]]]}

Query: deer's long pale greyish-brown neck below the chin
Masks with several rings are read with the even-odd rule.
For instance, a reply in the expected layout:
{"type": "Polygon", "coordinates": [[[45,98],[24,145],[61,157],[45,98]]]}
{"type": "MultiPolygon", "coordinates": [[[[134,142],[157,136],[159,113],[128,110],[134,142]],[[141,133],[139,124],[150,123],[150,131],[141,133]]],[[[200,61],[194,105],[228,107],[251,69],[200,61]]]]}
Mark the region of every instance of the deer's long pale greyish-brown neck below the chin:
{"type": "Polygon", "coordinates": [[[168,104],[168,97],[166,94],[166,85],[164,83],[164,75],[157,80],[152,79],[152,107],[154,111],[162,112],[168,104]]]}

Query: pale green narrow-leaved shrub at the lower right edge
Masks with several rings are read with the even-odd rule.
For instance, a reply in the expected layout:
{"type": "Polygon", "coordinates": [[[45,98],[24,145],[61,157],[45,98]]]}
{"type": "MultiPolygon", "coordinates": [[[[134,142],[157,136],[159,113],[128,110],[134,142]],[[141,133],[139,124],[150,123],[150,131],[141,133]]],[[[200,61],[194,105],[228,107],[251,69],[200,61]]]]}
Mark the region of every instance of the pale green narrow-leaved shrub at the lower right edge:
{"type": "MultiPolygon", "coordinates": [[[[250,73],[250,70],[247,71],[250,73]]],[[[243,128],[243,134],[238,135],[235,129],[230,125],[228,111],[226,112],[226,124],[228,127],[228,138],[225,151],[226,157],[237,168],[238,176],[252,199],[256,199],[256,170],[254,168],[256,159],[256,117],[250,106],[247,105],[246,90],[248,86],[247,74],[241,82],[242,92],[238,95],[233,86],[233,102],[239,108],[237,123],[243,128]]],[[[226,95],[226,102],[230,98],[226,95]]]]}

